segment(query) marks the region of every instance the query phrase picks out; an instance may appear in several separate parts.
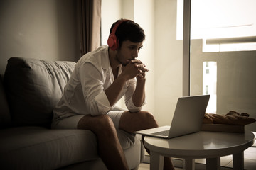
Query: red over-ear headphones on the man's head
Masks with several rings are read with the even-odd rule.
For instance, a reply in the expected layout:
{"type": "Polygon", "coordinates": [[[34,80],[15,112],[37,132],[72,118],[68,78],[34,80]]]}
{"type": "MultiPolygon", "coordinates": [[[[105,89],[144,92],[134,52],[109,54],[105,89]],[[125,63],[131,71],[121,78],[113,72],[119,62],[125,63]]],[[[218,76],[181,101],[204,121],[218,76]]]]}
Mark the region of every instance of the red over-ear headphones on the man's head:
{"type": "Polygon", "coordinates": [[[114,28],[112,29],[109,38],[107,39],[107,45],[110,47],[111,50],[117,50],[119,47],[119,40],[117,39],[117,36],[115,35],[115,32],[119,25],[124,22],[128,21],[127,19],[122,19],[118,21],[116,24],[114,24],[114,28]]]}

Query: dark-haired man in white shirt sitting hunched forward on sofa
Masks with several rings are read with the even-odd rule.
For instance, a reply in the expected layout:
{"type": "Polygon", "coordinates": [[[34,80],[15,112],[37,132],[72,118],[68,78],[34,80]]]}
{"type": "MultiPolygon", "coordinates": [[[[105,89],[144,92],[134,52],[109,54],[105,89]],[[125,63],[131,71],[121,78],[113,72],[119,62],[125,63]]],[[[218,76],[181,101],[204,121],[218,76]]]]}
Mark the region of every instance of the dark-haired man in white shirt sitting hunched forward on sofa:
{"type": "MultiPolygon", "coordinates": [[[[146,103],[146,66],[137,60],[145,39],[133,21],[119,20],[110,29],[109,46],[82,56],[53,113],[53,128],[91,130],[108,169],[128,169],[117,129],[134,132],[157,127],[154,116],[141,111],[146,103]],[[112,111],[124,96],[129,111],[112,111]]],[[[165,165],[172,169],[171,159],[165,165]]]]}

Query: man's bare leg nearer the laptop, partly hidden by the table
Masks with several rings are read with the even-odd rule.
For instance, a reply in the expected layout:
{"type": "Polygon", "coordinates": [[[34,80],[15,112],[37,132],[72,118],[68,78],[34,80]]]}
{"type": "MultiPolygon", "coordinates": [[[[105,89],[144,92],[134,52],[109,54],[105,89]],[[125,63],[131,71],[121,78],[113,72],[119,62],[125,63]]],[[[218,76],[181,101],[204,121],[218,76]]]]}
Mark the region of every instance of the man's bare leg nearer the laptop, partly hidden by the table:
{"type": "MultiPolygon", "coordinates": [[[[126,111],[122,114],[119,122],[119,129],[127,132],[135,132],[137,130],[144,130],[149,128],[158,127],[154,115],[146,111],[140,111],[137,113],[130,113],[126,111]]],[[[142,140],[144,137],[142,137],[142,140]]],[[[146,147],[145,147],[146,149],[146,147]]],[[[146,149],[149,152],[149,149],[146,149]]],[[[174,170],[174,165],[171,162],[170,157],[164,157],[164,170],[174,170]]]]}

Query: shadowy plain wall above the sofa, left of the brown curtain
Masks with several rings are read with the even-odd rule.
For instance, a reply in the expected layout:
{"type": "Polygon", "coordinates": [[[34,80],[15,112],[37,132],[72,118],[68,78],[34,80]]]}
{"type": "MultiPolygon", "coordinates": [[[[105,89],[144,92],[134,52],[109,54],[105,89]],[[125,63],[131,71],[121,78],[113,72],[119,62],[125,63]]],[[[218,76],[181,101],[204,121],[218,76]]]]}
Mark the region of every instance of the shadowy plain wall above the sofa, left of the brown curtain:
{"type": "Polygon", "coordinates": [[[73,0],[1,0],[0,73],[9,57],[77,60],[75,9],[73,0]]]}

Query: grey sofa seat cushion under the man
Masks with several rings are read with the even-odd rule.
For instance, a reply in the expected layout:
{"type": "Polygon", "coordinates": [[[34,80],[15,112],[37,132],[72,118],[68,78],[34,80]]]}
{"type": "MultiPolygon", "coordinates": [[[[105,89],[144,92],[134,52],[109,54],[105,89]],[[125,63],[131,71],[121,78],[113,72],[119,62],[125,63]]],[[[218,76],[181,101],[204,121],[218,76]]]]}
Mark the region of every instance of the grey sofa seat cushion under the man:
{"type": "MultiPolygon", "coordinates": [[[[140,141],[138,136],[122,130],[118,130],[117,135],[124,150],[140,141]]],[[[1,169],[58,169],[99,159],[97,138],[90,130],[30,126],[0,130],[0,136],[1,169]]]]}

